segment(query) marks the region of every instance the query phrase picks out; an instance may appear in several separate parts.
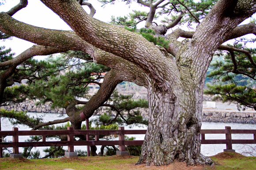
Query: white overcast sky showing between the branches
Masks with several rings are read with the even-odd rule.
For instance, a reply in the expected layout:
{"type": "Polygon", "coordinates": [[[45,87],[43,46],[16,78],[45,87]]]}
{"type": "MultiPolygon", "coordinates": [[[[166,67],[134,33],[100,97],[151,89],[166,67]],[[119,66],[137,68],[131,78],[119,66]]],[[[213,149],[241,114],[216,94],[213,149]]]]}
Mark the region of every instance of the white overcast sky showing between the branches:
{"type": "MultiPolygon", "coordinates": [[[[137,8],[140,11],[149,10],[147,7],[140,7],[136,2],[132,3],[130,8],[129,5],[125,5],[124,2],[116,2],[115,5],[108,4],[104,8],[101,7],[102,4],[97,0],[88,0],[88,2],[93,4],[94,8],[96,9],[94,18],[104,22],[109,22],[112,15],[115,17],[128,15],[129,12],[132,12],[132,9],[137,8]]],[[[7,0],[4,5],[0,6],[0,11],[9,11],[16,4],[19,4],[19,0],[7,0]]],[[[83,6],[83,8],[87,11],[87,13],[90,13],[89,7],[83,6]]],[[[56,30],[72,30],[62,19],[60,19],[58,15],[41,3],[40,0],[28,0],[27,7],[18,11],[12,17],[33,26],[56,30]]],[[[4,42],[0,41],[0,46],[3,45],[6,46],[6,48],[11,48],[12,52],[15,52],[15,56],[17,56],[27,48],[30,48],[33,43],[13,37],[12,40],[6,40],[4,42]]],[[[34,58],[42,59],[42,57],[34,58]]]]}

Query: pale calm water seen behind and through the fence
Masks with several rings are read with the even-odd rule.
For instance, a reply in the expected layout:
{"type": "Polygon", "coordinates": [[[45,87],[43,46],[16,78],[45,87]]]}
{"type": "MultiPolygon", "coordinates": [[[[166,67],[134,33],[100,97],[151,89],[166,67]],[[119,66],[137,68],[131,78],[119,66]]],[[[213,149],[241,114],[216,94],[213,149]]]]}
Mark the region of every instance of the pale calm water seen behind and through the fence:
{"type": "MultiPolygon", "coordinates": [[[[41,113],[28,113],[30,116],[42,116],[44,115],[45,122],[52,121],[55,119],[63,119],[64,117],[67,117],[67,115],[64,115],[64,117],[58,117],[58,114],[41,114],[41,113]]],[[[91,117],[94,118],[94,117],[91,117]]],[[[91,119],[90,118],[90,119],[91,119]]],[[[62,123],[65,124],[65,123],[62,123]]],[[[83,122],[85,124],[85,122],[83,122]]],[[[61,124],[59,124],[61,125],[61,124]]],[[[225,129],[225,126],[231,126],[231,129],[256,129],[256,125],[254,124],[241,124],[241,123],[216,123],[216,122],[203,122],[202,123],[202,129],[225,129]]],[[[8,119],[1,118],[1,128],[2,130],[12,130],[12,125],[9,122],[8,119]]],[[[17,126],[19,130],[30,130],[27,126],[17,126]]],[[[128,126],[125,126],[124,129],[129,129],[128,126]]],[[[132,127],[132,129],[147,129],[147,127],[132,127]]],[[[144,140],[145,135],[127,135],[128,137],[136,137],[136,140],[144,140]]],[[[20,136],[19,141],[22,142],[26,139],[28,139],[29,136],[20,136]]],[[[12,140],[11,136],[6,137],[7,140],[12,140]]],[[[225,139],[225,134],[205,134],[205,139],[225,139]]],[[[232,134],[232,139],[253,139],[253,134],[232,134]]],[[[97,146],[97,153],[100,152],[100,147],[97,146]]],[[[252,152],[252,148],[256,147],[255,144],[248,144],[248,145],[242,145],[242,144],[233,144],[233,149],[236,150],[238,153],[244,153],[245,152],[252,152]]],[[[45,155],[43,152],[43,149],[45,147],[37,147],[34,150],[39,150],[41,152],[41,157],[45,155]]],[[[64,146],[64,149],[68,149],[67,146],[64,146]]],[[[75,150],[87,150],[87,146],[75,146],[75,150]]],[[[211,156],[216,155],[220,152],[223,152],[223,149],[226,149],[226,144],[202,144],[201,146],[201,152],[203,155],[211,156]]],[[[22,148],[19,148],[19,151],[22,152],[22,148]]]]}

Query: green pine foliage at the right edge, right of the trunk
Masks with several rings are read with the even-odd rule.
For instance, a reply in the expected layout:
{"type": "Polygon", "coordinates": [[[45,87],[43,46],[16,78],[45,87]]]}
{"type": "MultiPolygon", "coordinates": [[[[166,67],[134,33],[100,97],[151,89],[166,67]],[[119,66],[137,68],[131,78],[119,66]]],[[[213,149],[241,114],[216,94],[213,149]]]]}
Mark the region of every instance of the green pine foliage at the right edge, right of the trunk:
{"type": "MultiPolygon", "coordinates": [[[[256,62],[255,48],[246,48],[245,44],[234,44],[234,47],[247,50],[256,62]]],[[[224,55],[224,61],[211,63],[212,71],[207,78],[212,78],[215,84],[207,84],[204,93],[215,96],[215,100],[237,103],[238,109],[250,107],[256,110],[256,67],[245,53],[234,52],[234,55],[236,69],[230,54],[224,55]]]]}

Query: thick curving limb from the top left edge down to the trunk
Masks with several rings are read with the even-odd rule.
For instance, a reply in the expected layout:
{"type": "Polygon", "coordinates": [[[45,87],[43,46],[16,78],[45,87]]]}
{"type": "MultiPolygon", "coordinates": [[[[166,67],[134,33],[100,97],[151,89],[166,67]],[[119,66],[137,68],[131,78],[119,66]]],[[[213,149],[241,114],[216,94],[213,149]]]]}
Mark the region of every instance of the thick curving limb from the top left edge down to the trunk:
{"type": "Polygon", "coordinates": [[[62,3],[55,0],[41,1],[59,15],[84,41],[136,64],[152,79],[162,84],[161,88],[167,81],[177,81],[174,74],[169,74],[173,71],[178,72],[177,66],[141,35],[90,17],[75,0],[62,3]],[[162,62],[158,67],[156,56],[158,61],[162,62]],[[169,80],[159,76],[161,74],[169,74],[169,80]]]}

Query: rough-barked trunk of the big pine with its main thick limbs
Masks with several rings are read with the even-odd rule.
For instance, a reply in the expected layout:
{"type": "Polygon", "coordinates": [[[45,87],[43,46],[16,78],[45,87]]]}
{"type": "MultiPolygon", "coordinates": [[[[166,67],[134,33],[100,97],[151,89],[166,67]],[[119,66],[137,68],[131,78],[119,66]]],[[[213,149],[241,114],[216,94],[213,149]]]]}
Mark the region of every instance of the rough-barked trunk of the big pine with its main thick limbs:
{"type": "MultiPolygon", "coordinates": [[[[177,31],[176,35],[169,36],[169,48],[166,49],[138,34],[90,17],[76,0],[41,1],[74,30],[56,31],[58,35],[66,35],[63,41],[55,40],[54,37],[60,39],[60,36],[56,36],[53,30],[40,30],[4,13],[0,13],[0,30],[53,47],[67,46],[63,42],[74,39],[71,43],[83,44],[79,48],[93,56],[94,62],[123,70],[133,75],[133,82],[147,87],[149,125],[138,164],[146,162],[148,166],[160,166],[175,159],[190,165],[212,163],[211,159],[200,154],[199,132],[206,71],[215,50],[227,39],[236,37],[238,33],[233,30],[255,13],[255,0],[218,0],[195,33],[182,34],[180,31],[183,36],[192,36],[191,41],[186,44],[178,42],[176,39],[182,35],[177,36],[177,31]],[[23,27],[16,28],[16,25],[23,27]],[[33,31],[27,29],[31,27],[33,31]],[[44,41],[33,38],[32,32],[44,37],[44,41]]],[[[239,36],[252,32],[244,31],[239,36]]]]}

